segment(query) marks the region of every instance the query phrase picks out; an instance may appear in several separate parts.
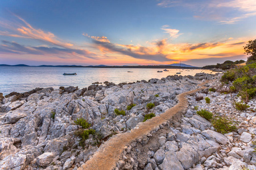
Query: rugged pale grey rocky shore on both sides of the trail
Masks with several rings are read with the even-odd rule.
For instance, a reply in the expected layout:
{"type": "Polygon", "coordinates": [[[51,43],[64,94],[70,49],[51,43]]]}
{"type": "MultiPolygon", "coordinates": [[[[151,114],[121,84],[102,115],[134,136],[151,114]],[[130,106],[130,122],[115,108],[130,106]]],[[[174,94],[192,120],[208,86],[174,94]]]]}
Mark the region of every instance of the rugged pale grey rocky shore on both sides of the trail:
{"type": "MultiPolygon", "coordinates": [[[[195,90],[197,84],[212,79],[206,86],[219,87],[220,75],[167,76],[137,83],[93,84],[77,87],[36,88],[24,94],[0,95],[0,168],[2,169],[78,169],[92,158],[98,147],[118,133],[129,133],[142,124],[147,103],[156,116],[177,103],[177,95],[195,90]],[[127,111],[127,105],[136,104],[127,111]],[[117,116],[115,109],[124,110],[117,116]],[[82,145],[75,124],[84,118],[96,131],[82,145]]],[[[225,87],[222,87],[225,88],[225,87]]],[[[115,169],[256,169],[256,101],[252,111],[236,111],[236,94],[221,95],[208,88],[188,96],[184,116],[160,125],[146,137],[133,141],[121,155],[115,169]],[[200,95],[208,96],[196,101],[200,95]],[[195,106],[214,114],[226,114],[239,121],[236,132],[220,134],[212,124],[196,114],[195,106]]]]}

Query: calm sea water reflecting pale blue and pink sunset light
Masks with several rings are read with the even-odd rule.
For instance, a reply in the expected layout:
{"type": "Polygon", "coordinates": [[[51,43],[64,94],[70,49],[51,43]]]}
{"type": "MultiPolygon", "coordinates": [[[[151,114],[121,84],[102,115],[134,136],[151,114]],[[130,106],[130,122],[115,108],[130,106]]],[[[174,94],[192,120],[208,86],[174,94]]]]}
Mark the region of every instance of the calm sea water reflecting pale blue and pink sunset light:
{"type": "MultiPolygon", "coordinates": [[[[72,68],[72,67],[0,67],[0,92],[4,95],[10,92],[26,92],[36,87],[78,86],[84,88],[93,82],[109,81],[113,83],[136,82],[151,78],[163,78],[174,75],[178,69],[117,69],[117,68],[72,68]],[[133,73],[127,73],[133,71],[133,73]],[[77,75],[63,75],[63,73],[77,73],[77,75]]],[[[195,75],[210,70],[181,70],[181,75],[195,75]]],[[[213,73],[214,74],[214,73],[213,73]]]]}

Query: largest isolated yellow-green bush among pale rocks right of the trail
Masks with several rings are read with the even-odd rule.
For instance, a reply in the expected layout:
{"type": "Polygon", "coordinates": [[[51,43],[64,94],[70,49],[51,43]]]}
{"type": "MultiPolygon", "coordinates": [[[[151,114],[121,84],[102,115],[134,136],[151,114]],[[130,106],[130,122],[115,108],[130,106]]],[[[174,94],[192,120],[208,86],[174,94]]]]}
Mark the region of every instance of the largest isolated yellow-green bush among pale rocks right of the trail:
{"type": "Polygon", "coordinates": [[[212,119],[212,125],[218,133],[229,133],[237,130],[237,122],[225,116],[216,116],[212,119]]]}

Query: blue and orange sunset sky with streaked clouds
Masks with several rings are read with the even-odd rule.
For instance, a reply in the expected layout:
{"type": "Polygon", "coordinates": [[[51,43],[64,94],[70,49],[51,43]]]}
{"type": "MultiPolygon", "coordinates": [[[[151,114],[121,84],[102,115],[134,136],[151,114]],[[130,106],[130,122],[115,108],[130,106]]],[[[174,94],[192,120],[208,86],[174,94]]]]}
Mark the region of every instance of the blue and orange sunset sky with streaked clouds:
{"type": "Polygon", "coordinates": [[[255,0],[0,0],[0,64],[205,66],[254,39],[255,0]]]}

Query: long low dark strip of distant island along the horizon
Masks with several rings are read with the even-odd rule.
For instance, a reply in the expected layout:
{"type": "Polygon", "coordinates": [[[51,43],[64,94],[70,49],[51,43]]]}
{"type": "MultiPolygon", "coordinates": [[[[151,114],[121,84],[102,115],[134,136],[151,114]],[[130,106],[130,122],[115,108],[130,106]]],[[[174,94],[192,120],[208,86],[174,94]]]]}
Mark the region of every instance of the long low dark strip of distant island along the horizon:
{"type": "Polygon", "coordinates": [[[184,63],[173,63],[171,65],[138,65],[138,66],[107,66],[107,65],[97,65],[97,66],[81,66],[81,65],[40,65],[40,66],[28,66],[28,65],[5,65],[1,64],[0,66],[12,66],[12,67],[102,67],[102,68],[141,68],[141,69],[179,69],[179,68],[189,68],[189,69],[201,69],[201,67],[195,67],[187,65],[184,63]]]}

